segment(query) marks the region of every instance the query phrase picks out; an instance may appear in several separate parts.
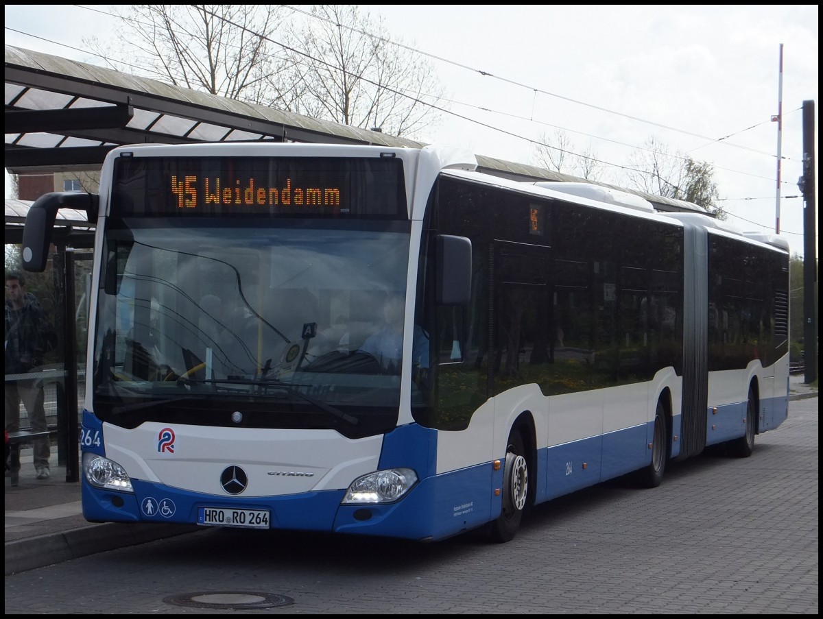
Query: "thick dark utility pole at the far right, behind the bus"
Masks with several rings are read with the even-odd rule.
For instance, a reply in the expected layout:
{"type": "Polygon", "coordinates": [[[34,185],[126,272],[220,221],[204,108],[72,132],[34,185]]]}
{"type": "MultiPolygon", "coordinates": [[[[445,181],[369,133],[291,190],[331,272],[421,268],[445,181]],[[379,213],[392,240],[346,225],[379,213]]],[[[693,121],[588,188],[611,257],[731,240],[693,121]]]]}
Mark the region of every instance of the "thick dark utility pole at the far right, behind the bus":
{"type": "Polygon", "coordinates": [[[815,102],[803,101],[803,365],[806,383],[817,379],[817,226],[815,224],[815,102]]]}

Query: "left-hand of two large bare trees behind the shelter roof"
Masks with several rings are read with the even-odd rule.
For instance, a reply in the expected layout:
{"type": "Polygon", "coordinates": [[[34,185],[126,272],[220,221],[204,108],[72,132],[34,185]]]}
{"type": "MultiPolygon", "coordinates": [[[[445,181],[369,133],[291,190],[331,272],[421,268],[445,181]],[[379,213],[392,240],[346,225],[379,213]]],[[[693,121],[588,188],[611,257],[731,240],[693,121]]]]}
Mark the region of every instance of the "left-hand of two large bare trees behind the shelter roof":
{"type": "MultiPolygon", "coordinates": [[[[272,36],[282,5],[133,4],[115,9],[120,70],[251,103],[267,101],[267,84],[290,65],[272,36]]],[[[101,49],[95,39],[84,39],[101,49]]],[[[105,56],[111,54],[105,53],[105,56]]]]}

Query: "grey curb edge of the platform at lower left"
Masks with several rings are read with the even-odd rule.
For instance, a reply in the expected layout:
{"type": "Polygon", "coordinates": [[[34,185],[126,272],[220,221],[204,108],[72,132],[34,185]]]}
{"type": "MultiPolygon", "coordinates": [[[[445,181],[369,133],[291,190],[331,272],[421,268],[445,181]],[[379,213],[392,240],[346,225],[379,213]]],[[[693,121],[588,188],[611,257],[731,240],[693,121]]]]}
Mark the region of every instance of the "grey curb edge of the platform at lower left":
{"type": "Polygon", "coordinates": [[[191,524],[91,524],[6,542],[6,575],[197,530],[202,528],[191,524]]]}

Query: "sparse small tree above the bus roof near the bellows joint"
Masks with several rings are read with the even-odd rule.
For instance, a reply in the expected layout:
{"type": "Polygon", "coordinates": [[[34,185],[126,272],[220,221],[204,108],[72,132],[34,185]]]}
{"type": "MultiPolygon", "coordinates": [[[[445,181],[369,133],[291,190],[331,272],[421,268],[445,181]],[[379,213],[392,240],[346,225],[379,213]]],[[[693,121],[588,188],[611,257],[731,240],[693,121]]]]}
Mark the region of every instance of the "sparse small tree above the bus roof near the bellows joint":
{"type": "Polygon", "coordinates": [[[708,161],[695,161],[677,152],[655,137],[649,137],[643,148],[630,155],[631,168],[625,168],[630,188],[653,193],[663,198],[694,202],[718,219],[728,214],[715,205],[718,186],[714,181],[714,166],[708,161]]]}

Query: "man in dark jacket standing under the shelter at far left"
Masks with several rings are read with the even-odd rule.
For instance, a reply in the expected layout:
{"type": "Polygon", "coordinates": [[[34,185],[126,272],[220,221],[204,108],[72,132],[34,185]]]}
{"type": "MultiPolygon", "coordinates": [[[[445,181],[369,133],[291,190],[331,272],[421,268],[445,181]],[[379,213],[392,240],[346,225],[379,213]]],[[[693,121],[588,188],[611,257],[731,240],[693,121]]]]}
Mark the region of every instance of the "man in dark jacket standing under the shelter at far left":
{"type": "MultiPolygon", "coordinates": [[[[20,403],[29,414],[31,430],[48,431],[43,407],[44,393],[35,379],[24,377],[43,365],[43,356],[57,345],[57,334],[44,309],[26,293],[26,277],[6,273],[6,431],[20,430],[20,403]]],[[[35,440],[34,460],[38,479],[49,478],[49,438],[35,440]]]]}

